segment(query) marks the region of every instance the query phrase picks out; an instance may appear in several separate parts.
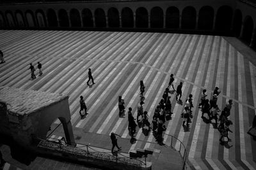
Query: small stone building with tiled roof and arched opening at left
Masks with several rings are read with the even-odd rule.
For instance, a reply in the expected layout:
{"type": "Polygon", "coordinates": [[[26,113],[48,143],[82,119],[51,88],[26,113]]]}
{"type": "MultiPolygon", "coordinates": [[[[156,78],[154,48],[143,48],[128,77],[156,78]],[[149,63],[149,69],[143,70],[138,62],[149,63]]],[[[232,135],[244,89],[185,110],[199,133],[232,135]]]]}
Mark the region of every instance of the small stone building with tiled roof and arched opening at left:
{"type": "Polygon", "coordinates": [[[0,87],[0,135],[21,146],[31,146],[33,139],[46,139],[49,127],[59,119],[68,145],[75,145],[68,96],[0,87]]]}

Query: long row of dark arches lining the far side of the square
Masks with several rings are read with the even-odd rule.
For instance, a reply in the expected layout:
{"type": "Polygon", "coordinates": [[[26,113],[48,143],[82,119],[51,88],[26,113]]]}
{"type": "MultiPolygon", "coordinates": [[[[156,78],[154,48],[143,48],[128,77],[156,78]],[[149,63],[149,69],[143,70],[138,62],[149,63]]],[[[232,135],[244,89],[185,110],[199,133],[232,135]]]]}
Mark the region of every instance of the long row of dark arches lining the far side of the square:
{"type": "Polygon", "coordinates": [[[255,20],[243,16],[241,10],[223,5],[217,9],[202,6],[199,9],[185,6],[181,10],[169,6],[150,9],[60,8],[53,10],[0,11],[0,27],[64,27],[64,28],[124,28],[124,29],[177,29],[197,31],[234,31],[250,46],[255,46],[255,20]]]}

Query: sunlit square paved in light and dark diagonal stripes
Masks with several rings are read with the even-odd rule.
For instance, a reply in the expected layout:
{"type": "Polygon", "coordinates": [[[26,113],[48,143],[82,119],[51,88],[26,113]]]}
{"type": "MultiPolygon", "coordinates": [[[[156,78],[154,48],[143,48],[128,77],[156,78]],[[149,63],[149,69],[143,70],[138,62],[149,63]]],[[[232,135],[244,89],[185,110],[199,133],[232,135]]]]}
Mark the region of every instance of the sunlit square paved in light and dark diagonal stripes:
{"type": "MultiPolygon", "coordinates": [[[[122,138],[131,138],[127,115],[118,115],[118,96],[124,97],[126,109],[131,107],[136,117],[139,81],[143,80],[144,110],[151,122],[170,74],[175,74],[175,87],[184,82],[182,101],[193,94],[195,108],[190,129],[184,131],[180,117],[184,104],[177,104],[173,94],[173,115],[166,122],[166,133],[186,146],[189,169],[255,169],[256,142],[246,132],[256,111],[256,67],[224,38],[97,31],[0,31],[0,38],[6,59],[0,66],[0,85],[67,94],[72,125],[85,132],[116,132],[122,138]],[[31,81],[28,64],[38,61],[44,74],[31,81]],[[96,82],[92,88],[86,85],[89,67],[96,82]],[[228,99],[234,101],[230,115],[234,133],[230,133],[233,141],[229,143],[234,146],[229,149],[220,145],[218,129],[205,124],[197,108],[202,90],[207,89],[209,99],[216,86],[221,89],[221,109],[228,99]],[[79,116],[81,95],[90,113],[83,120],[79,116]]],[[[138,141],[130,150],[156,147],[152,133],[145,136],[141,129],[137,131],[138,141]]],[[[166,145],[170,140],[164,136],[166,145]]],[[[179,149],[179,142],[174,141],[173,146],[179,149]]]]}

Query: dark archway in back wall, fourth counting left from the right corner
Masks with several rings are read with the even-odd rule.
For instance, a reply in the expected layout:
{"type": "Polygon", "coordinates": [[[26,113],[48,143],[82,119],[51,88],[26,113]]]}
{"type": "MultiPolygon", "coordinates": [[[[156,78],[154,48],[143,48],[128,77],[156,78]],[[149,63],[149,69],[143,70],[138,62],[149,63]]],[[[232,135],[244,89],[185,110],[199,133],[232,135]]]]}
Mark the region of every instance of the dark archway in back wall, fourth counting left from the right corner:
{"type": "Polygon", "coordinates": [[[180,11],[175,6],[166,10],[166,28],[177,29],[180,23],[180,11]]]}

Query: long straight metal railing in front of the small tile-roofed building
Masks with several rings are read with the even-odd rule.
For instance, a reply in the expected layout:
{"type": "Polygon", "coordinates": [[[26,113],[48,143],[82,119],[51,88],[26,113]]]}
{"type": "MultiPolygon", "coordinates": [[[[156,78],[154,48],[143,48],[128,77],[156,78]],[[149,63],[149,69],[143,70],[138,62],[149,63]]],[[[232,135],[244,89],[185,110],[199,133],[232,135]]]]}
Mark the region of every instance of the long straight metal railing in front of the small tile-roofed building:
{"type": "Polygon", "coordinates": [[[68,153],[80,158],[96,158],[102,160],[108,160],[113,162],[119,162],[122,164],[127,164],[129,166],[145,166],[147,167],[147,157],[140,159],[127,157],[126,155],[116,152],[113,155],[111,152],[102,152],[95,150],[91,145],[85,145],[81,143],[72,143],[75,146],[67,145],[65,138],[56,139],[56,138],[48,138],[51,140],[40,139],[38,147],[47,148],[49,150],[54,150],[54,152],[59,153],[68,153]],[[64,141],[64,143],[63,143],[64,141]]]}

